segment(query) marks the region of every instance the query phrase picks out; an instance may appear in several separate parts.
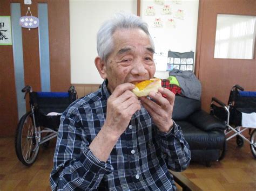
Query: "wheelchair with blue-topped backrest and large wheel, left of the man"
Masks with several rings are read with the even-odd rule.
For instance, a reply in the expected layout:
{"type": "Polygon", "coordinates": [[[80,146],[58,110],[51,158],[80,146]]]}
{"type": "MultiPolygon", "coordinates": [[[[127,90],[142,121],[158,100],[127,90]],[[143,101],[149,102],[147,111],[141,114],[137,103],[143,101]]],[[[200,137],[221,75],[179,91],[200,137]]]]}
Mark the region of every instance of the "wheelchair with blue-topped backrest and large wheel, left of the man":
{"type": "Polygon", "coordinates": [[[57,137],[62,112],[75,100],[77,93],[71,86],[68,92],[35,92],[25,86],[29,93],[30,111],[19,120],[15,135],[15,151],[26,166],[36,161],[41,145],[48,147],[50,139],[57,137]]]}

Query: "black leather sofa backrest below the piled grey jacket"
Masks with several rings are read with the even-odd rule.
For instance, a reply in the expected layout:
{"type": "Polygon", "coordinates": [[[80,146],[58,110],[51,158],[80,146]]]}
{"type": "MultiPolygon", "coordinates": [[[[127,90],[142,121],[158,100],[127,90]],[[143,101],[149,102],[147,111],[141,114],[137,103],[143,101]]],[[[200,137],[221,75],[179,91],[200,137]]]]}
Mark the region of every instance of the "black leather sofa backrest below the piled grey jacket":
{"type": "Polygon", "coordinates": [[[182,121],[200,108],[200,101],[176,95],[172,112],[172,119],[174,121],[182,121]]]}

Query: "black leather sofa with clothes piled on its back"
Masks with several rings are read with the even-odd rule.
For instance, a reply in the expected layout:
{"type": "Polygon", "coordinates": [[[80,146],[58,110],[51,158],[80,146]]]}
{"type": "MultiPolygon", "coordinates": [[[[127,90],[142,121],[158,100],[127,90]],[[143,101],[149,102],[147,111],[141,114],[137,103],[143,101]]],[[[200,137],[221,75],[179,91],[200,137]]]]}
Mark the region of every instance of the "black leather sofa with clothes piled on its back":
{"type": "Polygon", "coordinates": [[[204,162],[210,166],[211,161],[224,158],[226,126],[201,110],[200,101],[176,95],[172,118],[180,125],[190,145],[191,161],[204,162]]]}

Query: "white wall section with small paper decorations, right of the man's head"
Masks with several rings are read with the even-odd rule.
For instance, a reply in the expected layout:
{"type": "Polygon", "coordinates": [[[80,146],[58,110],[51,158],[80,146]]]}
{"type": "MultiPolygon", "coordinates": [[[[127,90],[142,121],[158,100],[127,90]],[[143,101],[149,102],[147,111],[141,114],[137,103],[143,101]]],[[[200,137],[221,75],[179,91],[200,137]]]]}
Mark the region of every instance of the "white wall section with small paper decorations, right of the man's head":
{"type": "MultiPolygon", "coordinates": [[[[199,0],[183,0],[180,4],[177,1],[164,1],[163,5],[158,5],[154,1],[142,1],[140,16],[149,25],[151,36],[156,46],[156,53],[163,52],[167,58],[169,50],[173,52],[196,52],[197,41],[197,21],[198,21],[198,6],[199,0]],[[170,6],[171,15],[163,15],[161,9],[164,5],[170,6]],[[153,6],[156,15],[146,16],[145,12],[148,6],[153,6]],[[184,19],[174,17],[178,9],[184,11],[184,19]],[[154,27],[154,19],[160,18],[163,27],[154,27]],[[168,19],[175,21],[176,27],[170,27],[167,24],[168,19]]],[[[166,59],[167,60],[167,59],[166,59]]],[[[166,68],[166,63],[163,63],[166,68]]],[[[155,76],[161,79],[169,77],[168,72],[163,72],[159,69],[155,76]]]]}

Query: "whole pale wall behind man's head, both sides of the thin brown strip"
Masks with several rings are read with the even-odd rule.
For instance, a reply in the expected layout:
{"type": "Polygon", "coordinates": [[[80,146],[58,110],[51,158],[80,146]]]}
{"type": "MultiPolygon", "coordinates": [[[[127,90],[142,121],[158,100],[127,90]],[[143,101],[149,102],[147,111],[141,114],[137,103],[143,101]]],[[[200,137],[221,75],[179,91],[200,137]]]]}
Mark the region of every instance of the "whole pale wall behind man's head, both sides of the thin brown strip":
{"type": "MultiPolygon", "coordinates": [[[[140,16],[149,24],[150,33],[156,44],[156,51],[167,53],[169,49],[177,52],[196,51],[198,1],[184,0],[180,5],[165,1],[172,6],[172,12],[181,8],[185,12],[184,20],[177,21],[176,29],[154,29],[152,16],[144,16],[147,4],[154,1],[140,1],[140,16]]],[[[102,79],[94,65],[97,56],[96,33],[100,25],[114,12],[126,11],[137,14],[137,1],[85,1],[70,0],[70,45],[71,45],[71,83],[99,84],[102,79]]],[[[156,72],[156,77],[165,79],[168,72],[156,72]]]]}

